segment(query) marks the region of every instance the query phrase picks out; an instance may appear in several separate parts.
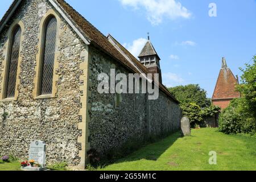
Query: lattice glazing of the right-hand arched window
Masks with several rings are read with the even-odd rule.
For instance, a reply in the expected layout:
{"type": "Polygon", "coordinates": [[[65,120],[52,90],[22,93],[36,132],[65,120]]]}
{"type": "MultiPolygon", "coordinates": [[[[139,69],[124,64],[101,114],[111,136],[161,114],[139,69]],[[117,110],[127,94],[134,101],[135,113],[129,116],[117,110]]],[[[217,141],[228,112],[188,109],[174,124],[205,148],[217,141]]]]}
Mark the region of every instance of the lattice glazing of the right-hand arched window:
{"type": "Polygon", "coordinates": [[[57,33],[57,20],[54,16],[48,18],[44,27],[44,43],[42,65],[40,70],[39,95],[52,94],[53,67],[55,60],[55,44],[57,33]]]}

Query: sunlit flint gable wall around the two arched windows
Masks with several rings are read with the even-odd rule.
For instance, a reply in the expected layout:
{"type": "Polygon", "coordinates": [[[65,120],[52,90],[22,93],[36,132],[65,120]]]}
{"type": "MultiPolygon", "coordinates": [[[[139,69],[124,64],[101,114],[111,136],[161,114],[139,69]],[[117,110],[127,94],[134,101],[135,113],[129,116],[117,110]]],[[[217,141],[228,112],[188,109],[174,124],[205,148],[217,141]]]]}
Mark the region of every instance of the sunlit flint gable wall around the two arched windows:
{"type": "MultiPolygon", "coordinates": [[[[35,100],[32,95],[39,24],[43,15],[52,8],[46,0],[27,0],[11,18],[22,20],[25,31],[22,32],[24,42],[18,101],[0,101],[0,155],[13,154],[19,158],[27,158],[30,142],[43,140],[47,144],[47,162],[67,161],[76,166],[80,163],[81,150],[81,144],[77,143],[77,138],[81,135],[81,130],[78,129],[81,107],[79,77],[82,74],[80,63],[83,57],[80,54],[85,45],[63,19],[58,27],[60,56],[56,98],[35,100]]],[[[7,28],[0,37],[1,73],[6,35],[7,28]]],[[[0,82],[2,80],[1,77],[0,82]]]]}

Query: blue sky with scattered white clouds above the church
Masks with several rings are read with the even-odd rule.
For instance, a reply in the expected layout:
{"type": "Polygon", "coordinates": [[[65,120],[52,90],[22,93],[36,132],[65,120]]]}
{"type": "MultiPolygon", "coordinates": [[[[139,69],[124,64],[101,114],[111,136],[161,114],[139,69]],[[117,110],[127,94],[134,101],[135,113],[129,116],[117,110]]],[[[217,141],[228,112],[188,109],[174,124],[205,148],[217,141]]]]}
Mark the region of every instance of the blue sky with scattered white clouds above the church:
{"type": "MultiPolygon", "coordinates": [[[[12,0],[0,1],[0,16],[12,0]]],[[[103,34],[112,34],[135,56],[150,32],[163,83],[200,84],[212,97],[221,58],[234,75],[256,53],[255,0],[67,0],[103,34]],[[209,4],[217,17],[209,16],[209,4]]]]}

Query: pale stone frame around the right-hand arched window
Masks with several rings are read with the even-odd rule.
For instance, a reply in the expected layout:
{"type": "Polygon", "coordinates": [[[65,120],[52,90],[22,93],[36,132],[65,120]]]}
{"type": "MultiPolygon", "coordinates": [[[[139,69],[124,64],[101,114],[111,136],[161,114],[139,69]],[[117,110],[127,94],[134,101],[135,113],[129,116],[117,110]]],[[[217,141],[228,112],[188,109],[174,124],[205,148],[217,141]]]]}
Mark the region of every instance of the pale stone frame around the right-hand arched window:
{"type": "Polygon", "coordinates": [[[55,98],[57,94],[57,81],[59,80],[59,75],[57,74],[56,70],[59,68],[59,61],[58,57],[60,55],[59,46],[60,46],[60,15],[56,13],[55,10],[51,9],[48,10],[46,15],[43,16],[41,22],[40,22],[40,32],[38,36],[38,54],[36,55],[36,75],[34,78],[34,85],[35,88],[33,90],[33,97],[35,99],[41,99],[41,98],[55,98]],[[44,39],[45,39],[45,33],[46,33],[46,26],[48,19],[54,17],[57,20],[57,28],[56,28],[56,43],[55,43],[55,58],[54,58],[54,65],[53,65],[53,78],[52,78],[52,93],[51,94],[45,94],[40,95],[40,76],[42,75],[42,63],[43,63],[43,47],[44,47],[44,39]]]}

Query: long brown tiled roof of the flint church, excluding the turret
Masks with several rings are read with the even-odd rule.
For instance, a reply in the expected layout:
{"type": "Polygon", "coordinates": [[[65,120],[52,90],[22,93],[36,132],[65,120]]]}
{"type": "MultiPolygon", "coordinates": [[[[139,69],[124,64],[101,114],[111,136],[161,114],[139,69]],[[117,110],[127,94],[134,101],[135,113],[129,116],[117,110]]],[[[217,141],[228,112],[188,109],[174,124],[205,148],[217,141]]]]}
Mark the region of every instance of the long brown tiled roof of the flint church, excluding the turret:
{"type": "MultiPolygon", "coordinates": [[[[133,64],[129,63],[129,61],[108,41],[105,35],[103,35],[99,30],[97,30],[96,27],[94,27],[92,24],[88,22],[82,15],[80,15],[75,9],[73,9],[67,2],[64,0],[54,0],[59,8],[64,11],[65,15],[69,16],[69,20],[72,21],[73,24],[75,24],[76,28],[81,31],[81,33],[86,36],[90,40],[90,44],[93,44],[93,46],[96,46],[100,48],[102,51],[104,51],[109,56],[112,56],[115,60],[119,61],[119,63],[126,66],[127,69],[131,69],[131,71],[138,73],[138,69],[134,67],[133,64]]],[[[1,19],[0,25],[5,26],[5,21],[7,20],[7,17],[13,13],[13,10],[16,6],[18,6],[18,3],[23,2],[22,0],[14,0],[11,6],[9,7],[9,10],[5,13],[3,18],[1,19]]],[[[122,47],[123,48],[123,47],[122,47]]],[[[134,63],[144,72],[148,73],[148,70],[146,67],[144,67],[141,63],[138,63],[138,60],[131,55],[129,51],[127,51],[125,48],[123,51],[126,52],[129,57],[134,61],[134,63]]],[[[168,96],[170,96],[173,100],[178,102],[170,92],[165,88],[163,85],[159,85],[159,88],[163,90],[164,93],[166,93],[168,96]]]]}

